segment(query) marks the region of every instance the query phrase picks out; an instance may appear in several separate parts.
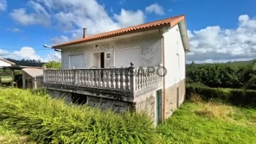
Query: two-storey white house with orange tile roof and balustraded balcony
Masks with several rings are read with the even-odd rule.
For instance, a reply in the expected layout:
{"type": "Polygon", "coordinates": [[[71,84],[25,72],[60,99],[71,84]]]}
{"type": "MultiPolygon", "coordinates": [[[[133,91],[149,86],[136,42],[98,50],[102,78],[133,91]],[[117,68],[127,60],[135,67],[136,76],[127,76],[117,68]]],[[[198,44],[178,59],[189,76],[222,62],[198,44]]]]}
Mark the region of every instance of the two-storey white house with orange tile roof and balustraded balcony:
{"type": "Polygon", "coordinates": [[[61,50],[62,70],[44,70],[53,96],[114,111],[146,111],[159,123],[185,99],[185,16],[53,46],[61,50]]]}

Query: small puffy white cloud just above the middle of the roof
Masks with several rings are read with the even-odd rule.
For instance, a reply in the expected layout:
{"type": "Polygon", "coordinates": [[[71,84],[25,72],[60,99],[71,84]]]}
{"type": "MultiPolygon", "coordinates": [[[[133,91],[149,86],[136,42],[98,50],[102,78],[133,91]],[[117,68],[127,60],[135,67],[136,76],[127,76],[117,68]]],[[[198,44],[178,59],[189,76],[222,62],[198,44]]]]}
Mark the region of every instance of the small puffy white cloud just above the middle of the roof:
{"type": "Polygon", "coordinates": [[[114,19],[117,20],[119,27],[134,26],[141,23],[144,23],[144,13],[143,11],[126,11],[125,9],[121,10],[121,13],[114,14],[114,19]]]}

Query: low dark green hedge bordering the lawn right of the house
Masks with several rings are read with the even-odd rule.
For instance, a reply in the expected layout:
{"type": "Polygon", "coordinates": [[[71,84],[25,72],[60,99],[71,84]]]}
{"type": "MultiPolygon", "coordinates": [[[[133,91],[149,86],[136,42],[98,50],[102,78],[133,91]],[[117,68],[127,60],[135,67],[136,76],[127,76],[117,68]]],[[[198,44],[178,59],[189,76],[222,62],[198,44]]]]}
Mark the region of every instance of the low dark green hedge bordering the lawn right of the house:
{"type": "Polygon", "coordinates": [[[247,90],[245,93],[242,89],[228,89],[228,88],[211,88],[198,87],[187,84],[186,96],[191,94],[199,94],[203,99],[222,99],[235,105],[250,105],[256,107],[256,91],[247,90]]]}

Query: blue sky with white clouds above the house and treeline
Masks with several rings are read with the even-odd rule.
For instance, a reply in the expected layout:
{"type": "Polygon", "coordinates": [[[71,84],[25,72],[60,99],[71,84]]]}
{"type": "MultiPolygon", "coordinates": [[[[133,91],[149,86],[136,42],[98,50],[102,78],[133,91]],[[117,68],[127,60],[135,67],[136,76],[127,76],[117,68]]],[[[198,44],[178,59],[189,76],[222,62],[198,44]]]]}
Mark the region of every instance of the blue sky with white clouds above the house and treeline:
{"type": "Polygon", "coordinates": [[[188,61],[226,62],[256,57],[256,1],[0,0],[0,57],[60,60],[43,48],[162,18],[186,15],[188,61]]]}

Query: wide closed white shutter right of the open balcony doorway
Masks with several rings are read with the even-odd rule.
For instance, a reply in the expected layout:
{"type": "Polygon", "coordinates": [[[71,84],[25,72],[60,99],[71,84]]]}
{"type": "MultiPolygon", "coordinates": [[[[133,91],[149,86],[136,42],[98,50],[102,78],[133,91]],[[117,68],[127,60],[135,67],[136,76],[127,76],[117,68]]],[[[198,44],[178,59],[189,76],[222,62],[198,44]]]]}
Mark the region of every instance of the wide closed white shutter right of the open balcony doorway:
{"type": "Polygon", "coordinates": [[[130,67],[131,62],[135,62],[135,67],[142,66],[142,48],[131,48],[114,51],[115,67],[130,67]]]}

